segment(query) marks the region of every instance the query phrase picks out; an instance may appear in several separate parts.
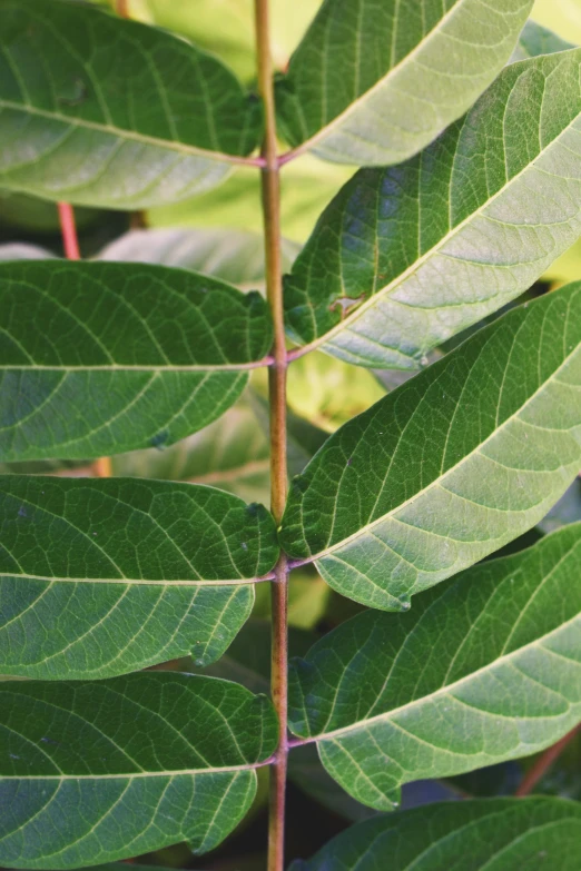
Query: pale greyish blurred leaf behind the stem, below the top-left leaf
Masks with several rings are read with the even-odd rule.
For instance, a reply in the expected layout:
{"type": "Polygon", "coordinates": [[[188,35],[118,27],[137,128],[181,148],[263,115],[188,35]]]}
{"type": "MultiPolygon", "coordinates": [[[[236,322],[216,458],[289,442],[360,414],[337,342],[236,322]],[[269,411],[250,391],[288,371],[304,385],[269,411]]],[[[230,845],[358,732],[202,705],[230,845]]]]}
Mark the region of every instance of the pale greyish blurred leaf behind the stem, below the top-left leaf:
{"type": "MultiPolygon", "coordinates": [[[[297,253],[295,243],[283,240],[283,269],[290,268],[297,253]]],[[[262,285],[265,273],[264,238],[221,228],[131,230],[104,248],[99,259],[177,266],[243,288],[262,285]]]]}

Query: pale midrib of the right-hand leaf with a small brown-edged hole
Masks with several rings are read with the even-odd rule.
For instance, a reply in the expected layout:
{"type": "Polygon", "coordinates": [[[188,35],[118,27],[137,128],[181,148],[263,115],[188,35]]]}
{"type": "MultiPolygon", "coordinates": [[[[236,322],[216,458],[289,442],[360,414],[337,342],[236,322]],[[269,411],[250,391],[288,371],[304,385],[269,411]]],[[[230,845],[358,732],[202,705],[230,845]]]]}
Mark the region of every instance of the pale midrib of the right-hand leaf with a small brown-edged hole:
{"type": "MultiPolygon", "coordinates": [[[[571,51],[579,52],[579,56],[581,58],[581,48],[571,49],[571,51]]],[[[569,53],[569,52],[563,52],[563,53],[569,53]]],[[[529,60],[520,61],[520,63],[529,63],[529,60]]],[[[513,63],[511,66],[515,67],[515,66],[518,66],[518,63],[513,63]]],[[[515,80],[515,82],[514,82],[514,85],[513,85],[513,87],[511,89],[511,93],[512,93],[512,90],[514,89],[514,87],[516,85],[516,81],[519,81],[519,79],[515,80]]],[[[543,93],[543,98],[544,98],[544,93],[543,93]]],[[[470,115],[471,115],[471,112],[469,112],[467,116],[465,117],[464,123],[462,125],[462,129],[464,129],[465,121],[467,120],[470,115]]],[[[535,165],[539,162],[539,160],[541,160],[553,148],[553,146],[558,145],[560,142],[560,140],[564,136],[567,136],[567,133],[579,121],[580,117],[581,117],[581,112],[578,112],[578,115],[572,119],[572,121],[567,127],[563,128],[563,130],[559,133],[559,136],[557,136],[554,139],[552,139],[551,142],[549,142],[549,145],[545,148],[541,149],[539,151],[539,154],[533,158],[533,160],[531,160],[530,164],[526,164],[526,166],[523,167],[523,169],[521,169],[520,172],[518,172],[511,179],[509,179],[505,182],[505,185],[503,185],[503,187],[501,187],[490,199],[486,199],[485,202],[483,202],[481,206],[479,206],[479,208],[475,209],[475,211],[472,211],[466,218],[464,218],[463,221],[461,221],[455,227],[453,227],[451,230],[449,230],[447,234],[445,236],[443,236],[442,239],[440,239],[437,241],[437,244],[434,245],[433,248],[430,248],[427,251],[425,251],[425,254],[421,255],[416,260],[414,260],[413,264],[411,264],[406,269],[404,269],[403,273],[401,273],[396,278],[394,278],[392,281],[390,281],[390,284],[385,285],[380,290],[376,290],[374,294],[372,294],[370,296],[370,298],[367,300],[365,300],[360,306],[357,306],[352,315],[347,315],[343,320],[341,320],[338,324],[336,324],[332,329],[327,330],[327,333],[325,333],[324,335],[317,336],[317,338],[313,339],[313,342],[309,342],[306,345],[302,345],[297,349],[297,350],[299,350],[301,356],[303,356],[304,354],[308,353],[309,350],[313,350],[313,349],[319,347],[319,345],[325,345],[334,336],[336,336],[337,334],[343,333],[345,329],[348,329],[349,325],[355,324],[361,317],[363,317],[363,315],[365,315],[365,313],[370,308],[374,308],[374,306],[380,304],[384,297],[387,297],[391,294],[393,294],[394,291],[396,291],[400,288],[400,286],[403,285],[416,271],[418,271],[421,269],[421,267],[424,266],[425,263],[427,263],[433,256],[439,254],[441,248],[443,248],[449,241],[454,239],[454,237],[456,235],[461,234],[462,230],[464,230],[464,228],[467,227],[473,220],[475,220],[476,218],[481,217],[484,214],[484,211],[492,204],[495,202],[496,199],[499,199],[503,194],[505,194],[508,190],[510,190],[510,188],[512,187],[513,184],[515,184],[526,172],[529,172],[531,169],[533,169],[535,167],[535,165]]],[[[503,145],[505,146],[504,139],[503,139],[503,145]]],[[[562,178],[562,177],[560,177],[560,178],[562,178]]],[[[460,258],[453,258],[453,259],[457,259],[460,263],[472,263],[471,260],[460,260],[460,258]]],[[[496,266],[494,264],[488,265],[488,266],[491,269],[500,268],[499,266],[496,266]]],[[[398,300],[395,300],[395,301],[398,301],[398,300]]],[[[405,305],[405,303],[400,303],[400,305],[405,305]]],[[[462,301],[459,305],[462,305],[462,301]]],[[[465,303],[464,303],[464,305],[465,305],[465,303]]],[[[435,310],[434,307],[430,307],[430,306],[422,306],[420,308],[421,308],[421,310],[426,310],[426,309],[430,310],[430,311],[435,310]]]]}

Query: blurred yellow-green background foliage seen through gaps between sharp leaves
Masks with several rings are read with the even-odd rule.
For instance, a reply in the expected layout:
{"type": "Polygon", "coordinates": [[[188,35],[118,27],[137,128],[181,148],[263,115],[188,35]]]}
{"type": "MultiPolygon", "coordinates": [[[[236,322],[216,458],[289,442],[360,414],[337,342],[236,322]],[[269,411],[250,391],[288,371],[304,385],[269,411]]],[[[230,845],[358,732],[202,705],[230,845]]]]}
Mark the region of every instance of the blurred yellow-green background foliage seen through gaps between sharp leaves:
{"type": "MultiPolygon", "coordinates": [[[[77,0],[71,0],[75,2],[77,0]]],[[[114,7],[114,0],[96,0],[114,7]]],[[[321,0],[272,0],[274,56],[284,69],[321,0]]],[[[132,18],[167,28],[218,55],[250,87],[254,83],[253,0],[128,0],[132,18]]],[[[533,17],[564,39],[581,44],[581,0],[536,0],[533,17]]],[[[354,168],[305,156],[283,172],[284,263],[288,269],[321,211],[354,168]]],[[[174,206],[139,214],[75,210],[86,258],[146,260],[216,275],[242,289],[263,285],[259,179],[238,169],[220,187],[174,206]]],[[[0,190],[0,258],[61,257],[55,204],[0,190]]],[[[575,244],[530,291],[581,278],[581,241],[575,244]]],[[[445,349],[444,349],[445,350],[445,349]]],[[[298,473],[326,438],[402,380],[344,364],[324,354],[303,357],[289,370],[289,472],[298,473]]],[[[115,475],[193,481],[236,493],[247,502],[268,503],[268,423],[265,375],[257,372],[243,399],[219,420],[166,451],[149,449],[114,457],[115,475]]],[[[8,472],[92,474],[87,463],[18,464],[8,472]]],[[[511,545],[525,547],[563,524],[581,521],[578,479],[548,517],[511,545]],[[532,537],[531,537],[532,536],[532,537]]],[[[313,568],[293,573],[290,653],[303,654],[317,635],[360,610],[332,592],[313,568]]],[[[260,586],[252,620],[227,655],[205,670],[246,684],[268,686],[269,598],[260,586]]],[[[195,671],[190,660],[166,669],[195,671]]],[[[404,788],[403,806],[469,795],[511,794],[535,763],[525,759],[455,778],[404,788]]],[[[159,851],[145,863],[209,871],[260,871],[266,842],[267,781],[264,771],[253,813],[220,849],[204,860],[186,845],[159,851]]],[[[581,799],[581,735],[539,781],[536,792],[581,799]]],[[[309,855],[351,822],[373,811],[357,804],[325,773],[312,746],[293,754],[288,795],[288,843],[293,855],[309,855]]]]}

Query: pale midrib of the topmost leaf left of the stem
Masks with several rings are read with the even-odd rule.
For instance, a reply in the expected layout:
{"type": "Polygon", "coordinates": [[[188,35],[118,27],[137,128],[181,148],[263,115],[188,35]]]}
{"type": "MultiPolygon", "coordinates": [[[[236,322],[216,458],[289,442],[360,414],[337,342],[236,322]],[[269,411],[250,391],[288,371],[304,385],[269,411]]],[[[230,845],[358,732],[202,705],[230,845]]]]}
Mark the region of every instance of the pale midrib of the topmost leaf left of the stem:
{"type": "MultiPolygon", "coordinates": [[[[187,145],[185,142],[178,142],[173,139],[161,139],[155,136],[148,136],[147,133],[139,133],[135,130],[127,130],[121,127],[115,127],[108,123],[98,123],[97,121],[87,121],[81,118],[72,118],[60,112],[51,112],[46,109],[39,109],[36,106],[29,103],[20,105],[12,102],[11,100],[0,99],[0,110],[10,109],[12,111],[22,112],[28,116],[38,116],[39,118],[46,118],[51,121],[59,121],[68,127],[77,129],[93,130],[100,133],[115,136],[118,139],[126,141],[138,142],[139,145],[152,146],[155,148],[163,148],[167,151],[177,151],[186,157],[198,157],[206,160],[215,160],[221,164],[238,164],[243,166],[253,165],[253,158],[242,157],[239,155],[227,155],[223,151],[209,151],[205,148],[198,148],[196,146],[187,145]]],[[[30,161],[27,161],[30,162],[30,161]]]]}

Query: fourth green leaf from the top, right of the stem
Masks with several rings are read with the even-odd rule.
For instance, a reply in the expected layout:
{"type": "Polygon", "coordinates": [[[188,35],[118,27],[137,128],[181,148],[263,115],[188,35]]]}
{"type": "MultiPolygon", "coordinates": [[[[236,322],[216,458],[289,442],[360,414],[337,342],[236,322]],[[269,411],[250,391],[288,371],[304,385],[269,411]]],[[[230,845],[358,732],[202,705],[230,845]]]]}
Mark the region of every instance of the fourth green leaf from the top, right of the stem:
{"type": "Polygon", "coordinates": [[[581,719],[581,524],[482,563],[406,615],[367,611],[294,662],[289,720],[380,810],[400,786],[525,756],[581,719]]]}

